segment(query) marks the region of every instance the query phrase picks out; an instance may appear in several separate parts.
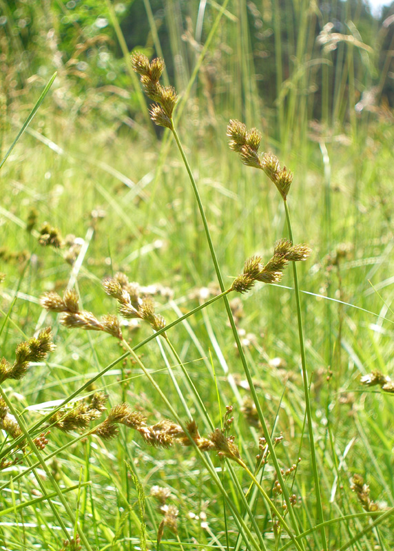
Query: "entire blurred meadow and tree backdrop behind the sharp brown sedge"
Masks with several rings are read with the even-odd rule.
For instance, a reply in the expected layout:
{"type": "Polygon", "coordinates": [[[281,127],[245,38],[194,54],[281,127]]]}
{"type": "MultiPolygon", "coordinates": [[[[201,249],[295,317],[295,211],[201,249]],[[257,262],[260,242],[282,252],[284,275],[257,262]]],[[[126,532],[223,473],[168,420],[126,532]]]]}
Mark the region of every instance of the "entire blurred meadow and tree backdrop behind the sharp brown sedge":
{"type": "MultiPolygon", "coordinates": [[[[1,166],[1,356],[12,363],[17,344],[45,326],[56,344],[23,379],[1,383],[32,436],[59,404],[74,395],[62,409],[72,411],[96,391],[107,410],[127,402],[149,425],[173,418],[124,346],[63,327],[40,306],[43,293],[72,287],[85,310],[114,314],[101,282],[122,271],[154,293],[169,324],[220,292],[187,170],[171,133],[150,121],[129,61],[135,51],[161,56],[226,286],[248,257],[268,260],[288,236],[276,187],[230,151],[229,119],[257,127],[262,152],[294,173],[293,236],[312,249],[298,277],[315,464],[291,267],[278,285],[229,295],[241,354],[220,299],[168,330],[172,348],[147,342],[140,361],[202,435],[234,406],[231,434],[253,471],[262,428],[246,362],[267,428],[283,437],[278,464],[286,471],[301,458],[286,481],[298,532],[309,530],[301,549],[393,548],[393,22],[393,7],[373,17],[355,0],[0,0],[1,158],[56,72],[1,166]],[[62,247],[40,244],[45,222],[62,247]],[[375,372],[382,384],[363,384],[375,372]]],[[[122,331],[131,346],[152,335],[133,320],[122,331]]],[[[21,450],[1,428],[1,549],[296,548],[275,534],[245,469],[215,454],[211,471],[193,448],[149,447],[126,427],[103,441],[53,426],[44,450],[21,450]],[[48,470],[29,469],[48,455],[48,470]],[[160,542],[155,486],[178,511],[160,542]]],[[[258,479],[282,508],[271,459],[258,479]]]]}

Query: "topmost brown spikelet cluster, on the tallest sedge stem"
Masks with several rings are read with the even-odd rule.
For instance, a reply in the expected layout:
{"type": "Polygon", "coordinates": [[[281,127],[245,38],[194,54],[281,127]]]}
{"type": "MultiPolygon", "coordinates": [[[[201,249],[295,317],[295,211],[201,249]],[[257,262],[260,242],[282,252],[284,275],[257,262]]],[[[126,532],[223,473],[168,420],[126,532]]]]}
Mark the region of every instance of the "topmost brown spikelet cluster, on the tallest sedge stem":
{"type": "Polygon", "coordinates": [[[149,63],[147,56],[136,52],[132,54],[132,67],[141,77],[141,83],[148,98],[156,103],[150,108],[152,121],[158,126],[173,129],[172,113],[178,96],[172,86],[162,86],[159,83],[165,64],[163,59],[156,58],[149,63]]]}

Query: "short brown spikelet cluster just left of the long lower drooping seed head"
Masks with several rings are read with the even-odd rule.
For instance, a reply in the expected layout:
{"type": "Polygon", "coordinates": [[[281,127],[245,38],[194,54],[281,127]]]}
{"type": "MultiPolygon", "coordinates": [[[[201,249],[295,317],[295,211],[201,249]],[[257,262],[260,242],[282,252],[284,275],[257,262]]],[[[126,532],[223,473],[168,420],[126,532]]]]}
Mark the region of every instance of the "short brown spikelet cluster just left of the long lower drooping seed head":
{"type": "Polygon", "coordinates": [[[50,417],[49,424],[59,428],[63,433],[70,433],[72,430],[83,432],[94,419],[101,417],[106,401],[107,397],[104,393],[95,393],[90,399],[72,404],[67,409],[56,411],[50,417]]]}

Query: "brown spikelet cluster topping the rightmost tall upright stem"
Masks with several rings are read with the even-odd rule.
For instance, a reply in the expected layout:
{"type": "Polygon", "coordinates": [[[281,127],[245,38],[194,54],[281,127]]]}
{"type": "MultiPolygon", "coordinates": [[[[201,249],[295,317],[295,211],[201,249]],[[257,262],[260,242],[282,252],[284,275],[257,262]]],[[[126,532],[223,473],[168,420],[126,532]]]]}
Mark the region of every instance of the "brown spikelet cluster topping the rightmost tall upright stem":
{"type": "Polygon", "coordinates": [[[240,160],[248,167],[258,168],[276,185],[284,200],[287,198],[293,174],[286,167],[281,168],[278,158],[271,153],[262,156],[258,154],[261,134],[256,128],[247,130],[244,123],[231,120],[227,125],[227,136],[230,138],[229,147],[239,154],[240,160]]]}

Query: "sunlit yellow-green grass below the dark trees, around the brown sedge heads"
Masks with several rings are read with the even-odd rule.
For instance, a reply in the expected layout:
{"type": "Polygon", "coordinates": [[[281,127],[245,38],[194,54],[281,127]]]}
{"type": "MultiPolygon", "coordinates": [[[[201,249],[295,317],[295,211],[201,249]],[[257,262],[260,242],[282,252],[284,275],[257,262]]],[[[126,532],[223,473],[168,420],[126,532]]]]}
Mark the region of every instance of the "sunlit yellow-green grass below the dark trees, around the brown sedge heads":
{"type": "MultiPolygon", "coordinates": [[[[238,17],[239,48],[245,55],[245,6],[237,3],[233,8],[227,6],[229,14],[238,17]]],[[[225,24],[211,37],[212,51],[234,24],[228,15],[223,17],[225,24]]],[[[302,32],[307,36],[307,29],[302,32]]],[[[298,47],[308,48],[308,41],[301,39],[298,47]]],[[[172,48],[181,47],[176,44],[178,39],[172,48]]],[[[348,62],[350,66],[349,57],[348,62]]],[[[177,132],[225,289],[241,273],[246,258],[260,253],[268,260],[274,242],[288,236],[276,188],[262,171],[243,166],[227,147],[228,118],[244,118],[239,108],[244,94],[254,102],[245,104],[245,122],[256,127],[261,122],[251,109],[259,106],[253,67],[242,67],[237,81],[237,63],[231,67],[234,90],[226,92],[222,105],[219,96],[213,97],[214,127],[200,90],[197,96],[186,94],[185,110],[181,103],[175,114],[177,118],[182,113],[177,132]]],[[[187,82],[190,91],[192,81],[187,82]]],[[[338,85],[338,90],[335,101],[340,106],[344,89],[338,85]]],[[[287,481],[289,495],[298,499],[294,523],[289,514],[285,517],[292,536],[307,532],[299,539],[300,548],[388,551],[394,544],[392,395],[379,386],[363,386],[360,376],[375,370],[391,375],[393,369],[391,119],[382,112],[375,118],[363,113],[349,128],[346,121],[336,121],[338,131],[324,129],[319,143],[307,137],[307,106],[298,103],[294,88],[289,93],[295,94],[289,102],[278,104],[276,120],[282,127],[266,133],[262,149],[276,152],[294,172],[288,197],[293,238],[312,248],[307,262],[298,264],[298,280],[316,466],[311,460],[291,267],[280,285],[257,283],[237,295],[243,309],[240,354],[225,300],[198,310],[220,286],[172,136],[152,138],[143,130],[143,116],[141,131],[133,138],[127,132],[106,131],[99,122],[70,122],[69,112],[54,109],[51,91],[1,167],[0,271],[5,280],[0,287],[0,338],[2,355],[13,362],[17,344],[50,325],[56,350],[47,361],[30,366],[22,380],[3,382],[2,393],[34,437],[43,430],[39,423],[44,416],[74,393],[81,398],[102,390],[108,408],[127,402],[147,414],[148,424],[167,417],[185,424],[193,417],[204,436],[221,426],[225,406],[231,404],[231,434],[253,472],[262,431],[242,412],[244,399],[252,397],[252,382],[269,432],[273,438],[283,436],[275,448],[278,464],[286,470],[301,457],[294,479],[287,481]],[[273,136],[280,136],[280,142],[273,136]],[[25,230],[32,208],[37,211],[36,229],[48,221],[63,236],[72,233],[85,240],[78,271],[59,251],[41,247],[34,232],[25,230]],[[94,209],[105,211],[105,216],[92,222],[94,209]],[[66,329],[56,314],[45,313],[38,303],[45,291],[62,294],[72,280],[83,309],[98,316],[116,313],[116,301],[105,294],[101,281],[118,270],[143,286],[171,289],[169,297],[155,298],[156,311],[167,325],[198,310],[168,329],[170,345],[153,338],[145,324],[123,327],[129,345],[138,347],[139,358],[133,362],[110,335],[66,329]],[[382,512],[364,512],[351,491],[355,473],[370,486],[371,499],[382,512]],[[320,483],[324,530],[318,526],[314,474],[320,483]]],[[[19,121],[6,119],[1,157],[32,110],[34,94],[28,104],[21,106],[19,121]]],[[[229,295],[230,304],[235,296],[229,295]]],[[[2,457],[10,444],[3,435],[2,457]]],[[[60,550],[64,531],[74,537],[78,523],[83,546],[101,551],[143,548],[141,534],[147,549],[295,549],[285,530],[274,537],[271,512],[258,490],[260,484],[281,510],[282,497],[272,494],[272,458],[253,484],[247,470],[232,461],[201,456],[193,447],[149,447],[125,427],[112,441],[94,435],[81,439],[56,428],[48,439],[40,457],[21,456],[20,465],[1,471],[0,548],[60,550]],[[42,464],[36,476],[23,472],[47,455],[52,455],[48,472],[42,464]],[[156,539],[163,515],[149,496],[155,485],[171,490],[167,504],[179,510],[178,534],[165,528],[160,544],[156,539]]]]}

